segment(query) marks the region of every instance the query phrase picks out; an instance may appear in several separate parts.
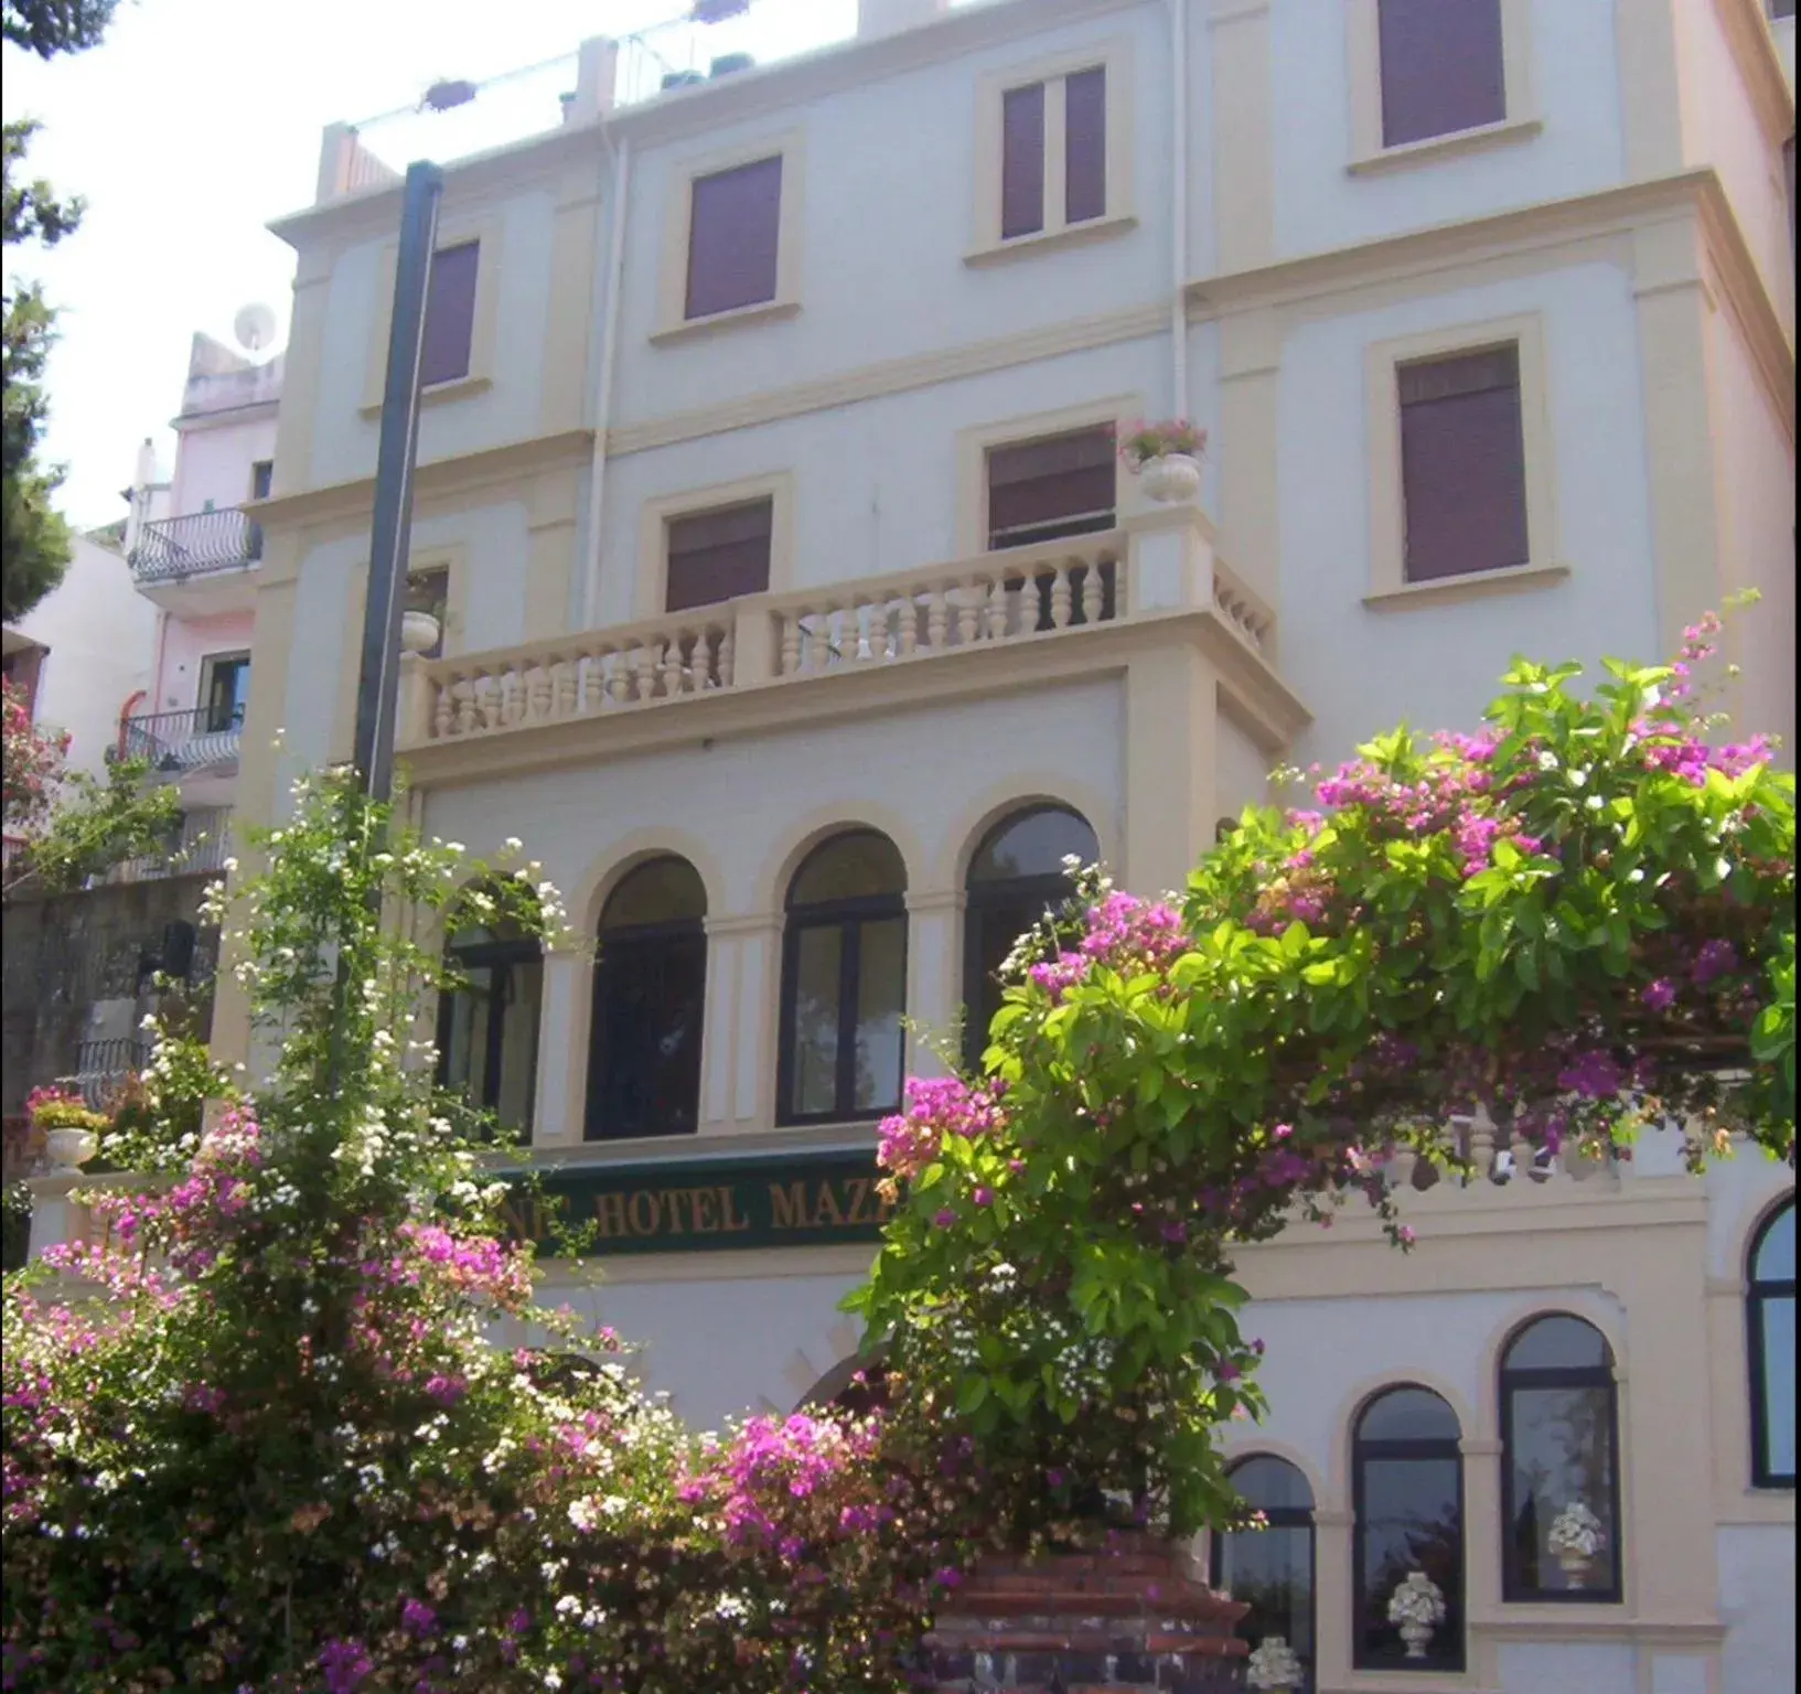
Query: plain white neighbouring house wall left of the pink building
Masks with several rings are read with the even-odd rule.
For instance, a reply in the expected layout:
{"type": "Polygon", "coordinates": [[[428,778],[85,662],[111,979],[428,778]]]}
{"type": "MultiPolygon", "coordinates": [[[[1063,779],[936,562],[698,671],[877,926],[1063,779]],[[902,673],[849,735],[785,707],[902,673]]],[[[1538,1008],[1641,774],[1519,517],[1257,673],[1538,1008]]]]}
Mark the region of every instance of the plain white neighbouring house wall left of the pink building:
{"type": "Polygon", "coordinates": [[[61,583],[13,628],[50,650],[38,673],[40,727],[67,729],[68,769],[101,776],[119,713],[149,684],[157,608],[117,553],[76,535],[61,583]]]}

